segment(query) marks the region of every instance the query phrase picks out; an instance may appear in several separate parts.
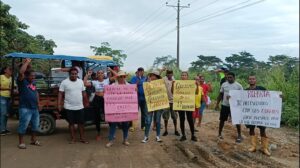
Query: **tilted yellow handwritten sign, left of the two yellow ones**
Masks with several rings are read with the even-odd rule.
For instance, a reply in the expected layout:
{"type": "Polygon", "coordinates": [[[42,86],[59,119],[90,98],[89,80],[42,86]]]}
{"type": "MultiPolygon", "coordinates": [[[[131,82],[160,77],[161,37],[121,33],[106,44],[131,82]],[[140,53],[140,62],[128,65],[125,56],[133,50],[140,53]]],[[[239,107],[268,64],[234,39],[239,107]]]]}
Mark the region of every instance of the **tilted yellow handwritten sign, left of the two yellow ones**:
{"type": "Polygon", "coordinates": [[[167,88],[163,79],[143,83],[148,111],[169,108],[167,88]]]}

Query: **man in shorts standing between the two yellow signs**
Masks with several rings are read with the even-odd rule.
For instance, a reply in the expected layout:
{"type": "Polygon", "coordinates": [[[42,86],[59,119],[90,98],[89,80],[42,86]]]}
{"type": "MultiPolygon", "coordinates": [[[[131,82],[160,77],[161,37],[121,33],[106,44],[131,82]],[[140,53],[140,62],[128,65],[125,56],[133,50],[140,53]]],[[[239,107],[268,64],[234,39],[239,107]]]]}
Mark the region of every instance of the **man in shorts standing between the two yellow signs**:
{"type": "Polygon", "coordinates": [[[168,120],[170,118],[170,115],[173,120],[174,129],[175,129],[175,135],[180,136],[179,132],[177,131],[177,112],[173,111],[173,94],[172,94],[172,85],[173,85],[173,71],[167,70],[166,71],[166,77],[163,78],[167,87],[167,94],[169,98],[169,104],[170,109],[167,109],[163,113],[163,119],[165,121],[165,132],[163,133],[163,136],[168,135],[168,120]]]}

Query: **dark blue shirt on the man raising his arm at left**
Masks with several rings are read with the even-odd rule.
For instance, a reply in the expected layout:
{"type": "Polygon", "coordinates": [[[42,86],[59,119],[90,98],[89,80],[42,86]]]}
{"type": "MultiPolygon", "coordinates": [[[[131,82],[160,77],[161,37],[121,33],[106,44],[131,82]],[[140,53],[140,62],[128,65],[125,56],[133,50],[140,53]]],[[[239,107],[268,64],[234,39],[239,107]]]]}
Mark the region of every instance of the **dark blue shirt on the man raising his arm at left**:
{"type": "Polygon", "coordinates": [[[19,107],[35,109],[38,108],[37,88],[35,83],[29,83],[27,79],[18,80],[19,107]]]}

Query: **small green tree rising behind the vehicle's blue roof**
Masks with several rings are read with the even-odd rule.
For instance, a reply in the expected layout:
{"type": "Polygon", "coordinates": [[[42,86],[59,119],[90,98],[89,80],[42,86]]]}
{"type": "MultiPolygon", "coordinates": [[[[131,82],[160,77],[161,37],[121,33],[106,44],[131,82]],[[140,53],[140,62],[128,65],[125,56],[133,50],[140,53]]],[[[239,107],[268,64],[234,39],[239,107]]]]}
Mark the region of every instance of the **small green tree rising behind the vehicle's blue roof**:
{"type": "Polygon", "coordinates": [[[126,60],[127,55],[123,53],[123,50],[114,50],[110,47],[108,42],[101,43],[100,47],[90,46],[95,55],[105,55],[113,57],[113,60],[120,65],[124,65],[123,61],[126,60]]]}

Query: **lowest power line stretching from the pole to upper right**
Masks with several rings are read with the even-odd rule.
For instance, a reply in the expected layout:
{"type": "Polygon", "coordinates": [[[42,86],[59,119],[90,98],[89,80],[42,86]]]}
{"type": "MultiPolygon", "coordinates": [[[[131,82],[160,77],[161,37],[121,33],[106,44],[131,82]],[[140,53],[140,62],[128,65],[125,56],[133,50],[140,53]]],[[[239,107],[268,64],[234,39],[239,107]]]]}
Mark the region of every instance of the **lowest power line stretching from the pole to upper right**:
{"type": "MultiPolygon", "coordinates": [[[[238,8],[234,8],[234,9],[231,9],[231,10],[228,10],[228,11],[225,11],[225,12],[222,12],[222,13],[220,13],[220,14],[214,14],[214,15],[211,14],[211,15],[207,15],[207,16],[205,16],[205,17],[199,18],[200,20],[197,19],[197,21],[188,23],[188,24],[183,25],[183,26],[181,26],[181,27],[183,28],[183,27],[191,26],[191,25],[196,24],[196,23],[204,22],[204,21],[210,20],[210,19],[215,18],[215,17],[218,17],[218,16],[222,16],[222,15],[225,15],[225,14],[228,14],[228,13],[232,13],[232,12],[235,12],[235,11],[240,10],[240,9],[243,9],[243,8],[247,8],[247,7],[250,7],[250,6],[259,4],[259,3],[263,2],[263,1],[265,1],[265,0],[259,0],[259,1],[253,2],[253,3],[249,3],[249,4],[247,4],[247,5],[244,5],[244,6],[241,6],[241,7],[238,7],[238,8]]],[[[232,8],[232,7],[231,7],[231,8],[232,8]]]]}

